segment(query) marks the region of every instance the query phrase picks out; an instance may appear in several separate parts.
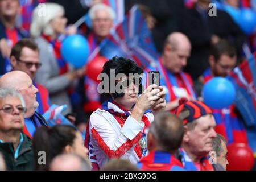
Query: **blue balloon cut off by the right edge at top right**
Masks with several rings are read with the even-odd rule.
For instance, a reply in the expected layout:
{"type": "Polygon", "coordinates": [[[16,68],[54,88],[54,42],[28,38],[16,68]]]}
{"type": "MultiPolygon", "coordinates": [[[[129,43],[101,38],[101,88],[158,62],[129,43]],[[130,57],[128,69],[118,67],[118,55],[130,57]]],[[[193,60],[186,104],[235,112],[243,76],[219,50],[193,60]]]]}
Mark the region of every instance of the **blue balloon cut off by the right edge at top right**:
{"type": "Polygon", "coordinates": [[[256,28],[256,13],[251,9],[241,10],[241,23],[240,27],[245,34],[250,35],[256,28]]]}

